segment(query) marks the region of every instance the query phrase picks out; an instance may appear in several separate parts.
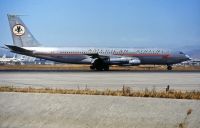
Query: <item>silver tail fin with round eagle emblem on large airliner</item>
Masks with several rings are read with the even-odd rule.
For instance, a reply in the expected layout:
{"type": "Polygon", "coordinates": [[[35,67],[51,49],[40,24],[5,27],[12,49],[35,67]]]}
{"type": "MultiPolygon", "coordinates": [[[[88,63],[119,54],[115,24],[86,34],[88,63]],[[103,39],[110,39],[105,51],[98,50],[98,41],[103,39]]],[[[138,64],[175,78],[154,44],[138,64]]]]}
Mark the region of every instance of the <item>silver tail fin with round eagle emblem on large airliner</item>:
{"type": "Polygon", "coordinates": [[[22,22],[19,16],[9,15],[8,21],[12,33],[13,44],[19,47],[38,47],[40,44],[22,22]]]}

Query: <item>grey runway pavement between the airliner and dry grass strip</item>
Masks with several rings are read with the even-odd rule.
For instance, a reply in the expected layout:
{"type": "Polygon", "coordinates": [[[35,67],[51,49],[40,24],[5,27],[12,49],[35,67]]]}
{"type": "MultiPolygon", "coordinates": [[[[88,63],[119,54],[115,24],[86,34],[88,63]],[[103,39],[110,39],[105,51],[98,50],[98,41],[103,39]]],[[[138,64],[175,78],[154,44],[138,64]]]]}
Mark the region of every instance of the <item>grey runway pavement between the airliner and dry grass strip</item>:
{"type": "Polygon", "coordinates": [[[0,72],[0,86],[200,90],[199,72],[0,72]]]}

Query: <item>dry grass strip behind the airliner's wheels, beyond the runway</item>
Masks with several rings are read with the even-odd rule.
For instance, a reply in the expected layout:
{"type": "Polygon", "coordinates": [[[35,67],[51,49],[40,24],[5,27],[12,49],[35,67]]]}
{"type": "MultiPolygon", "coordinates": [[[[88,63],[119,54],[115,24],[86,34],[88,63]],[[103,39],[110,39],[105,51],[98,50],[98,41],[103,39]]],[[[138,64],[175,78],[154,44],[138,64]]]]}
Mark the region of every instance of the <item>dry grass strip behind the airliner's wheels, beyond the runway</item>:
{"type": "MultiPolygon", "coordinates": [[[[1,65],[0,70],[89,70],[90,65],[55,64],[55,65],[1,65]]],[[[166,66],[140,65],[140,66],[111,66],[111,70],[118,71],[165,71],[166,66]]],[[[175,71],[200,71],[200,66],[173,66],[175,71]]]]}

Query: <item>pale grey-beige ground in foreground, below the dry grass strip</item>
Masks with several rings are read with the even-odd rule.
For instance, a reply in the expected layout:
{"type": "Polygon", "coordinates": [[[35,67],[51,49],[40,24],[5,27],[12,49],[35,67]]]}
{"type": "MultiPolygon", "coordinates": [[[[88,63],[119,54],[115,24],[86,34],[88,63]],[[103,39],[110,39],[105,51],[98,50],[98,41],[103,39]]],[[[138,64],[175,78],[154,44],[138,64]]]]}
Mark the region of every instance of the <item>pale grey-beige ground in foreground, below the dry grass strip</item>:
{"type": "Polygon", "coordinates": [[[0,93],[1,128],[199,128],[200,101],[0,93]]]}

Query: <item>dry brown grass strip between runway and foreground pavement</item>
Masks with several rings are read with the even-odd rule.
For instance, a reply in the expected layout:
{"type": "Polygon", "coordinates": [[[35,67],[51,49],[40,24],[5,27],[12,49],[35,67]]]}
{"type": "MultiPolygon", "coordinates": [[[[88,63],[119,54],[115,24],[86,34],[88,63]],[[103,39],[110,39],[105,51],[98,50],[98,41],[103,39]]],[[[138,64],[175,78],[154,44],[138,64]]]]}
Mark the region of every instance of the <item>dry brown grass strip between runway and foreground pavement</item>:
{"type": "Polygon", "coordinates": [[[200,100],[200,91],[156,91],[155,89],[145,89],[143,91],[132,90],[123,86],[121,90],[91,90],[85,89],[53,89],[53,88],[33,88],[0,86],[0,92],[23,92],[23,93],[51,93],[51,94],[81,94],[81,95],[106,95],[106,96],[128,96],[128,97],[154,97],[171,99],[196,99],[200,100]]]}

